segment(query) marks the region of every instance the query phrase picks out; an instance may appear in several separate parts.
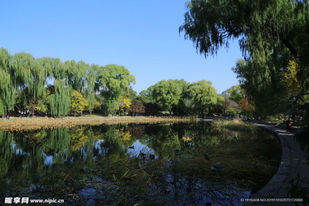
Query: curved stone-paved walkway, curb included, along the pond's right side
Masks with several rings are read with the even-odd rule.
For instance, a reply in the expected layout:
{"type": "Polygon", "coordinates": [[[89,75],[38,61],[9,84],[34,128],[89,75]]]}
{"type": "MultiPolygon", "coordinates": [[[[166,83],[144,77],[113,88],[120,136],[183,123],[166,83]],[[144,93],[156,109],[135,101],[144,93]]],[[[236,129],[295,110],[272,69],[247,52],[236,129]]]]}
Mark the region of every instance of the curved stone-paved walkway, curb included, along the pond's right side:
{"type": "MultiPolygon", "coordinates": [[[[267,183],[267,185],[260,191],[251,195],[251,199],[277,199],[277,198],[291,198],[287,197],[286,187],[290,187],[289,183],[290,179],[295,179],[297,173],[300,174],[300,179],[305,177],[309,177],[309,166],[307,166],[306,158],[302,158],[302,161],[296,168],[298,160],[301,156],[306,155],[300,149],[298,143],[294,139],[294,134],[297,131],[297,128],[292,128],[293,132],[286,132],[286,129],[281,128],[280,126],[275,125],[264,125],[257,124],[258,126],[265,128],[269,133],[277,136],[281,142],[282,147],[282,157],[281,163],[278,168],[277,173],[273,176],[273,178],[267,183]]],[[[292,201],[256,201],[256,202],[245,202],[244,206],[254,205],[254,206],[262,206],[262,205],[290,205],[294,206],[295,203],[292,201]]],[[[303,205],[301,202],[298,202],[298,205],[303,205]]]]}

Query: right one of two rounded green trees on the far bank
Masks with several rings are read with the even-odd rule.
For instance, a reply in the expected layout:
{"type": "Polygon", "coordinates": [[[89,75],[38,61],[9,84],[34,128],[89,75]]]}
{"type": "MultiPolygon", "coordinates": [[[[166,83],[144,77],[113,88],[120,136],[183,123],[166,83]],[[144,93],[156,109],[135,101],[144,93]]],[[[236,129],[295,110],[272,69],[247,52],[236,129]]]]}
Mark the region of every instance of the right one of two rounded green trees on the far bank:
{"type": "Polygon", "coordinates": [[[193,82],[188,87],[188,95],[192,100],[191,107],[200,111],[202,118],[204,118],[206,108],[217,103],[217,90],[211,85],[212,82],[203,79],[193,82]]]}

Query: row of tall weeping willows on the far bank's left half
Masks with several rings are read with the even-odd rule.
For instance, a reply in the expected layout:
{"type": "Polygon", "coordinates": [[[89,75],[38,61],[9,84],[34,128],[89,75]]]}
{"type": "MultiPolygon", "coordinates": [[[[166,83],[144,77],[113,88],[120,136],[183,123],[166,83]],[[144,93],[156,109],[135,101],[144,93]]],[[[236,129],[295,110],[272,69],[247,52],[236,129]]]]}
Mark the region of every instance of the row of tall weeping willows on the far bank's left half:
{"type": "Polygon", "coordinates": [[[49,112],[53,116],[66,115],[69,105],[75,108],[73,111],[85,105],[92,111],[98,93],[102,107],[112,112],[123,95],[129,93],[132,83],[135,83],[135,77],[124,66],[89,65],[82,60],[62,62],[59,58],[34,58],[25,52],[11,55],[0,48],[0,115],[12,109],[14,104],[49,112]],[[53,80],[52,86],[46,86],[48,80],[53,80]],[[70,100],[78,93],[87,103],[71,104],[70,100]]]}

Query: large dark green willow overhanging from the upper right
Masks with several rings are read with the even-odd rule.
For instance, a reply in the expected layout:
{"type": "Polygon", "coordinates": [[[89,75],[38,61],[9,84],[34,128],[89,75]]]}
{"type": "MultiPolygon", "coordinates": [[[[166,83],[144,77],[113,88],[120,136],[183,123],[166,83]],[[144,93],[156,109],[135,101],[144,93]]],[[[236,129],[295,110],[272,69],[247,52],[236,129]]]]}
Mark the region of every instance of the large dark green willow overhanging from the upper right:
{"type": "Polygon", "coordinates": [[[249,101],[255,103],[255,111],[269,115],[280,111],[274,108],[284,99],[280,73],[292,58],[298,59],[298,76],[308,82],[303,75],[308,73],[309,46],[304,43],[309,40],[308,15],[307,0],[192,0],[187,2],[179,32],[185,32],[185,38],[205,57],[239,38],[244,60],[233,71],[252,98],[249,101]]]}

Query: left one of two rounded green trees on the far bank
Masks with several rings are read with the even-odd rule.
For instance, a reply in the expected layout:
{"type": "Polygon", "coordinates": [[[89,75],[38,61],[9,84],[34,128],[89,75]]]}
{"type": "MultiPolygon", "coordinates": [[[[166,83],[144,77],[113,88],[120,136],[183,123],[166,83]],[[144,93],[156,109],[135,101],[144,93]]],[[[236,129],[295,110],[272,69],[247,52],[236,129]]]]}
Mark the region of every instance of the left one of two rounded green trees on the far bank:
{"type": "Polygon", "coordinates": [[[183,88],[178,79],[161,80],[154,85],[152,97],[170,115],[174,107],[179,103],[183,88]]]}

